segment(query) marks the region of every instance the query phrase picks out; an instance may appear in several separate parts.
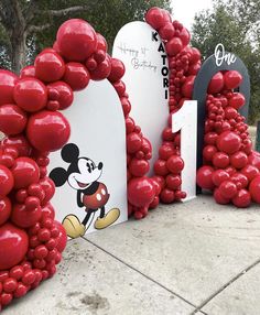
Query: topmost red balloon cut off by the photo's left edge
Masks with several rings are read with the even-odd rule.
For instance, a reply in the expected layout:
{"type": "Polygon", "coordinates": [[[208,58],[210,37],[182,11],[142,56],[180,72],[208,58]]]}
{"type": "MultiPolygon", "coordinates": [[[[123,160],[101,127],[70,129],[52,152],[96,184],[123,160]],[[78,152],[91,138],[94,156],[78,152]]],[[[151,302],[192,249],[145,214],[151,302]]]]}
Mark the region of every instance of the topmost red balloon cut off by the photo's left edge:
{"type": "Polygon", "coordinates": [[[0,69],[0,106],[13,102],[13,88],[18,76],[9,70],[0,69]]]}

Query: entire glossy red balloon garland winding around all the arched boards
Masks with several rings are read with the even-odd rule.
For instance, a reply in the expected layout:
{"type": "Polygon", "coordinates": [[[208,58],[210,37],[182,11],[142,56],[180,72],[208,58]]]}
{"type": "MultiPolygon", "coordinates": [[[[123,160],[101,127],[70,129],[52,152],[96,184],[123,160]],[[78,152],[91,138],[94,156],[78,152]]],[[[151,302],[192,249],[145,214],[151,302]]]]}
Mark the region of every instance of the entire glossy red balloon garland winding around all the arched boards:
{"type": "MultiPolygon", "coordinates": [[[[165,44],[170,66],[170,117],[162,132],[155,175],[145,177],[152,148],[130,117],[131,104],[121,80],[123,64],[107,53],[106,40],[83,20],[66,21],[52,48],[42,51],[20,77],[0,70],[0,309],[51,278],[62,259],[66,233],[55,221],[51,205],[54,184],[47,176],[48,154],[69,138],[69,123],[61,110],[73,104],[74,91],[90,79],[108,79],[123,110],[127,132],[129,215],[147,216],[160,200],[185,197],[180,133],[172,133],[171,117],[192,99],[201,53],[189,46],[189,33],[167,11],[152,8],[145,15],[165,44]]],[[[243,96],[234,91],[237,72],[218,73],[208,87],[205,165],[197,183],[214,191],[219,204],[247,207],[260,203],[260,155],[252,151],[245,119],[238,108],[243,96]]]]}

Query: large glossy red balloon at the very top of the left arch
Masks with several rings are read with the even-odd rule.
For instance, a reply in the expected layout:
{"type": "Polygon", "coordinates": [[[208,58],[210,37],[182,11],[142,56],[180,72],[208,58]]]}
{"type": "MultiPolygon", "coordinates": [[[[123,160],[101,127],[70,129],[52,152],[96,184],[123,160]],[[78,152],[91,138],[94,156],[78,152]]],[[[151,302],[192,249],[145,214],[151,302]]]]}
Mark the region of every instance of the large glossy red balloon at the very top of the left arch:
{"type": "Polygon", "coordinates": [[[84,20],[68,20],[57,31],[57,45],[66,59],[83,62],[97,48],[96,32],[84,20]]]}

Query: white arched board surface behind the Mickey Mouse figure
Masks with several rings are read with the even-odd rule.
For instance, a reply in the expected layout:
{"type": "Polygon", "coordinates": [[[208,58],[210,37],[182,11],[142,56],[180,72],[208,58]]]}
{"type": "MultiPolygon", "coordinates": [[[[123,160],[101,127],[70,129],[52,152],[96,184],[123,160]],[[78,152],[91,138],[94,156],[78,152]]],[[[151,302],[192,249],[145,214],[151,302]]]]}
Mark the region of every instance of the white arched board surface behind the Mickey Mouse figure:
{"type": "MultiPolygon", "coordinates": [[[[63,111],[71,124],[68,143],[79,149],[79,158],[88,158],[96,165],[101,162],[102,174],[98,182],[107,186],[110,197],[105,205],[106,214],[118,208],[120,216],[115,224],[128,219],[127,209],[127,161],[126,123],[119,97],[108,80],[90,82],[87,88],[74,93],[73,105],[63,111]]],[[[69,163],[61,158],[61,151],[51,154],[48,172],[56,167],[67,171],[69,163]]],[[[56,187],[51,200],[56,218],[63,221],[72,214],[82,222],[86,216],[85,207],[77,206],[77,191],[66,182],[56,187]]],[[[95,229],[94,224],[100,210],[93,214],[87,224],[87,233],[95,229]]]]}

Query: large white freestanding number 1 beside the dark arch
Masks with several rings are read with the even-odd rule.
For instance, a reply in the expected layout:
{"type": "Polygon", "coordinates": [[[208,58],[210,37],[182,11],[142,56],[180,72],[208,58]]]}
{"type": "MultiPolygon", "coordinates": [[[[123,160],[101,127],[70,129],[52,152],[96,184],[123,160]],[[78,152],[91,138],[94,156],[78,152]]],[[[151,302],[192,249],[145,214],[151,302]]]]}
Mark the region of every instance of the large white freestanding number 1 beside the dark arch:
{"type": "Polygon", "coordinates": [[[197,101],[185,100],[183,107],[172,116],[172,132],[181,130],[182,191],[187,194],[184,202],[196,197],[197,164],[197,101]]]}

